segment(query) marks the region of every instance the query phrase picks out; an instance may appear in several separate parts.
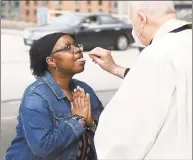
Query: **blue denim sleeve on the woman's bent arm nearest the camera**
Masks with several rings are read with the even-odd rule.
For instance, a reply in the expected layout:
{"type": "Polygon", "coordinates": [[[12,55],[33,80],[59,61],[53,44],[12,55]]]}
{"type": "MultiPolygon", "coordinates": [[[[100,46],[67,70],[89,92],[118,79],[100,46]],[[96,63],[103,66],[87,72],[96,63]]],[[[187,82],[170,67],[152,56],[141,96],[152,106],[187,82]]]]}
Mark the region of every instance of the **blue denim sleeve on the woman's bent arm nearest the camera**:
{"type": "Polygon", "coordinates": [[[20,108],[26,140],[36,156],[65,149],[85,131],[75,119],[53,126],[47,102],[36,93],[27,93],[20,108]]]}

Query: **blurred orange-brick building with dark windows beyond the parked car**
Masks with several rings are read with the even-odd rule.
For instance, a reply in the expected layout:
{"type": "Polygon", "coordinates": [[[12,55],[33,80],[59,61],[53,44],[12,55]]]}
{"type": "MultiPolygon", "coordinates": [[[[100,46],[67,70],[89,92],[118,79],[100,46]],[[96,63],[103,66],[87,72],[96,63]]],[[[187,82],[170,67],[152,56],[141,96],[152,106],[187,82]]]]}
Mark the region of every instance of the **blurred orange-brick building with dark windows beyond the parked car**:
{"type": "Polygon", "coordinates": [[[75,12],[111,12],[110,1],[20,1],[21,20],[37,22],[37,8],[47,7],[49,10],[75,12]]]}

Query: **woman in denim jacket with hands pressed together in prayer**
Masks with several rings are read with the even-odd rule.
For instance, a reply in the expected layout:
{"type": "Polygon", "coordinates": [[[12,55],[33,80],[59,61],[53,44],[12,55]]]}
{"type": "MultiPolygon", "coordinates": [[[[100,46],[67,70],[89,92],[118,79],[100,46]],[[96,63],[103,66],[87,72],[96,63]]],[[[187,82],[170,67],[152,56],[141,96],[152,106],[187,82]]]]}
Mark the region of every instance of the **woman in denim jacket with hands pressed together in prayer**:
{"type": "Polygon", "coordinates": [[[72,79],[84,70],[82,45],[53,33],[30,49],[37,80],[24,92],[16,137],[6,160],[95,160],[93,136],[103,107],[86,83],[72,79]]]}

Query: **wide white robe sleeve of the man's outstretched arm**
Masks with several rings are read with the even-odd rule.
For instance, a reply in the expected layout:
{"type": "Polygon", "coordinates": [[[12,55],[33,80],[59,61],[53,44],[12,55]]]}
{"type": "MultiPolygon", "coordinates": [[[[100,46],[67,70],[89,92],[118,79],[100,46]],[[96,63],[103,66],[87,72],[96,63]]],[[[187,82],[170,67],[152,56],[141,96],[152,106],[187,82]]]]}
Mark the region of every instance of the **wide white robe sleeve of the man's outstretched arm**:
{"type": "Polygon", "coordinates": [[[175,90],[171,62],[139,61],[105,107],[95,133],[98,159],[143,159],[158,136],[175,90]]]}

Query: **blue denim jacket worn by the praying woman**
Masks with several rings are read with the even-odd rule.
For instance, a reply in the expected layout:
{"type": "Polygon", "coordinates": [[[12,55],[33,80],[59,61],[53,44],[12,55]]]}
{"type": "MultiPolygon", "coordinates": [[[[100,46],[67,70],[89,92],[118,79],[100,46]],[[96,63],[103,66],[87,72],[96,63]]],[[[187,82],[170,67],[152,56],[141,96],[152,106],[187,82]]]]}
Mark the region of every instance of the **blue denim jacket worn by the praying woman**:
{"type": "MultiPolygon", "coordinates": [[[[91,87],[72,79],[71,89],[77,86],[90,94],[92,116],[98,120],[103,110],[102,103],[91,87]]],[[[7,149],[5,159],[75,160],[78,155],[78,138],[84,133],[85,129],[72,119],[70,102],[51,74],[46,72],[24,92],[16,137],[7,149]]],[[[89,134],[94,147],[93,136],[89,134]]]]}

